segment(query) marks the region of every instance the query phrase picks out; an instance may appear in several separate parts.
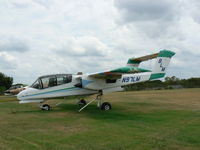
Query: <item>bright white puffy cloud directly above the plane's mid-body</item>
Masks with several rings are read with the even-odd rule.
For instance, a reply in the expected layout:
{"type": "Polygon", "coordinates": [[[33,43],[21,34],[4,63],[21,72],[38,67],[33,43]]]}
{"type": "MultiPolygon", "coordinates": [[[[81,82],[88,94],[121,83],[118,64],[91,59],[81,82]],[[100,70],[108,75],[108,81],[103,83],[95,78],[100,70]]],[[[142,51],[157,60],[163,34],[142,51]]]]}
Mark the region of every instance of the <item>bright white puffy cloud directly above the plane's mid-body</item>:
{"type": "Polygon", "coordinates": [[[91,36],[63,39],[51,47],[55,53],[70,57],[105,57],[109,54],[109,48],[99,39],[91,36]]]}

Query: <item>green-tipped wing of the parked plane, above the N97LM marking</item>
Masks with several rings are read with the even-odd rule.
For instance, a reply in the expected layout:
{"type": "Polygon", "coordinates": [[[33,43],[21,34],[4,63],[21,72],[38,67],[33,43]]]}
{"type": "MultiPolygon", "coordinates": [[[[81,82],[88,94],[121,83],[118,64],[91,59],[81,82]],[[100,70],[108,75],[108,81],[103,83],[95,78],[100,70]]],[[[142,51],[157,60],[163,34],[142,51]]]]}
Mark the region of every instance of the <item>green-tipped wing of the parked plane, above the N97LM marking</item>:
{"type": "Polygon", "coordinates": [[[99,78],[99,79],[118,79],[121,78],[122,74],[128,73],[139,73],[139,72],[150,72],[150,70],[137,68],[133,66],[121,67],[113,70],[102,71],[88,74],[89,77],[99,78]]]}

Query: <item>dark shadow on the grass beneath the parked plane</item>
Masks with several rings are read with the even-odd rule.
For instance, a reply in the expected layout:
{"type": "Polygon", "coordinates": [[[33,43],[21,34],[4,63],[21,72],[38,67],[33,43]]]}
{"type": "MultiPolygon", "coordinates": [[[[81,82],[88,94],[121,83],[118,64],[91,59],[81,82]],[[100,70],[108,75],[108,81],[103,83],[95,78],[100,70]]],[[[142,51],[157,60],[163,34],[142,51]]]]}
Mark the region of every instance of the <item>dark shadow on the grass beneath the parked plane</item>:
{"type": "MultiPolygon", "coordinates": [[[[34,109],[34,108],[33,108],[34,109]]],[[[80,115],[80,117],[89,117],[94,120],[104,120],[107,122],[114,121],[123,121],[123,120],[143,120],[145,117],[145,113],[142,112],[127,112],[124,111],[124,108],[119,106],[114,106],[112,110],[109,111],[102,111],[96,107],[96,105],[90,105],[86,109],[81,112],[78,112],[80,108],[74,104],[61,104],[51,111],[43,111],[38,109],[34,110],[16,110],[11,112],[12,114],[46,114],[46,113],[56,113],[56,112],[69,112],[70,115],[80,115]]],[[[146,116],[147,117],[147,116],[146,116]]]]}

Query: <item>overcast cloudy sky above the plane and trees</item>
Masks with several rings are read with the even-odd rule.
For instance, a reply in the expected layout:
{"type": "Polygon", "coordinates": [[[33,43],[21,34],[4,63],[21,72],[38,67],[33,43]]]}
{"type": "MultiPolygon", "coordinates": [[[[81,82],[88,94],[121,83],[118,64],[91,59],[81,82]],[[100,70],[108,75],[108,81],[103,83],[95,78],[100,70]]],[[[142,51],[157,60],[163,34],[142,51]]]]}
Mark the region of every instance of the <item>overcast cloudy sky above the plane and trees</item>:
{"type": "Polygon", "coordinates": [[[0,0],[0,72],[31,84],[169,49],[167,76],[199,77],[199,10],[199,0],[0,0]]]}

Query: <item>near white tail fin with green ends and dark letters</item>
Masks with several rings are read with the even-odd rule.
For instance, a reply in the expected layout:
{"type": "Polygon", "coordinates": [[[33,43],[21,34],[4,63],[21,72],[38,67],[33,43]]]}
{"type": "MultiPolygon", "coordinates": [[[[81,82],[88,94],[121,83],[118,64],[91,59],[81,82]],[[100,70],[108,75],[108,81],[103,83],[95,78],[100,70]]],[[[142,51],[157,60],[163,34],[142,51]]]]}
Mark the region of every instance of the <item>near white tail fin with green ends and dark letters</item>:
{"type": "Polygon", "coordinates": [[[152,70],[152,75],[150,77],[150,80],[162,78],[165,76],[166,69],[170,63],[170,60],[172,56],[174,56],[175,53],[169,50],[161,50],[158,53],[155,66],[152,70]]]}

